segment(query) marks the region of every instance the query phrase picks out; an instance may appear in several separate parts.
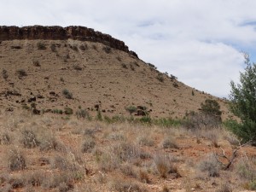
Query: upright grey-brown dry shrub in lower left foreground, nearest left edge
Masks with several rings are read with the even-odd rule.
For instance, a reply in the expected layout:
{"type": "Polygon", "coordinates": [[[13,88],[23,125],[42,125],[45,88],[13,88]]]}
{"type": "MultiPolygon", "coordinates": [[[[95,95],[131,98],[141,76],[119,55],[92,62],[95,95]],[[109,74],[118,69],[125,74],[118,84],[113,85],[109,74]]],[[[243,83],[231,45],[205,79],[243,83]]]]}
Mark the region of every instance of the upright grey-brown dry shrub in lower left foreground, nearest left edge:
{"type": "Polygon", "coordinates": [[[17,149],[11,149],[8,157],[8,164],[10,171],[20,171],[26,169],[26,159],[17,149]]]}

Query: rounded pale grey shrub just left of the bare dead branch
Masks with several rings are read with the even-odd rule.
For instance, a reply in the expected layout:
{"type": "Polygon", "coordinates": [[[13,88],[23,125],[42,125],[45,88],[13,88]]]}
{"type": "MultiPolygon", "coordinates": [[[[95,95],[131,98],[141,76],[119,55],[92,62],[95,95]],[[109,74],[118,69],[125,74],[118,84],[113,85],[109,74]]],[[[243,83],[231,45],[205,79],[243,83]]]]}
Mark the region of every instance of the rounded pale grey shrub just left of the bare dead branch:
{"type": "Polygon", "coordinates": [[[201,160],[198,165],[201,172],[207,172],[208,177],[218,177],[220,165],[213,155],[208,155],[206,160],[201,160]]]}

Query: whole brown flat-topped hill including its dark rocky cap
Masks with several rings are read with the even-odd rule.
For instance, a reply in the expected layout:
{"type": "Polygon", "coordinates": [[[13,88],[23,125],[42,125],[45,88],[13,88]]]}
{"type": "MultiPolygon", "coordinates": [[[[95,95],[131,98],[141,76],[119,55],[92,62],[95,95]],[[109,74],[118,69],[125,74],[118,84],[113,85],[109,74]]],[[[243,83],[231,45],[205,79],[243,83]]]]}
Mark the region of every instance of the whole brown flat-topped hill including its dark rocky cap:
{"type": "Polygon", "coordinates": [[[84,26],[0,26],[0,106],[181,118],[216,99],[140,60],[124,42],[84,26]],[[145,110],[146,109],[146,110],[145,110]],[[128,110],[129,111],[129,110],[128,110]]]}

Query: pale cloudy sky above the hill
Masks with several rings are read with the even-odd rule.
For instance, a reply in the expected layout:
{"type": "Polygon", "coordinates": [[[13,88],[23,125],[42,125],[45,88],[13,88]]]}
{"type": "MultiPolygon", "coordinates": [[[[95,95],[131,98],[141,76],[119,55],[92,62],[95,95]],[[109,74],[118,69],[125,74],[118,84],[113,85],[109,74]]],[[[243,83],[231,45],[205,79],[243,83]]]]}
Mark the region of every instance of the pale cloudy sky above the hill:
{"type": "Polygon", "coordinates": [[[1,26],[87,26],[215,96],[256,61],[255,0],[0,0],[1,26]]]}

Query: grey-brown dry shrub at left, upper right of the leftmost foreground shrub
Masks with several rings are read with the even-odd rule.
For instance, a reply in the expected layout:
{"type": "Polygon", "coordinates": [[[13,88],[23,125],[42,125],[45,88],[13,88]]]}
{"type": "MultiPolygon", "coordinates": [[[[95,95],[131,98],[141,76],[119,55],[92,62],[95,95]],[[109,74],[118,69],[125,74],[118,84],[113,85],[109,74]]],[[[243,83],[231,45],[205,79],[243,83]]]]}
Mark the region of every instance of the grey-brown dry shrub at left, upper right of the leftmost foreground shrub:
{"type": "Polygon", "coordinates": [[[25,148],[35,148],[38,146],[38,139],[33,131],[22,131],[21,143],[25,148]]]}

